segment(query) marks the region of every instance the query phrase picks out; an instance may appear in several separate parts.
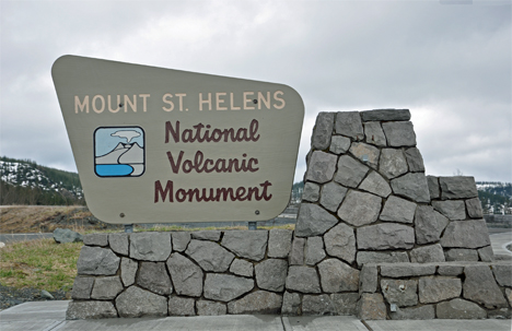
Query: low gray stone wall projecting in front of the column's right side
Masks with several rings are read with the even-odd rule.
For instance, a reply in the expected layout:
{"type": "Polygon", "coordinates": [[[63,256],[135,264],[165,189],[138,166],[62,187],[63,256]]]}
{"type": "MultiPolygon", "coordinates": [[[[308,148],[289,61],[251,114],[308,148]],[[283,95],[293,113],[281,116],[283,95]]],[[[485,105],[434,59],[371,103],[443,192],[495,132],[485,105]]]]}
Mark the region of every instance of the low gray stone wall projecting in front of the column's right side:
{"type": "Polygon", "coordinates": [[[370,263],[361,271],[359,317],[510,319],[511,287],[504,261],[370,263]]]}

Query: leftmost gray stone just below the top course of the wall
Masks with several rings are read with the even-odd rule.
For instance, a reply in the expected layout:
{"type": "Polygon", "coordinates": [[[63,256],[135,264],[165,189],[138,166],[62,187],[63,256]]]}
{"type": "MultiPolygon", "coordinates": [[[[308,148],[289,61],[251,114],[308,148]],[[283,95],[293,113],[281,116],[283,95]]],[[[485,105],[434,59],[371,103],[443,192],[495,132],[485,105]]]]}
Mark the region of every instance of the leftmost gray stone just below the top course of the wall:
{"type": "Polygon", "coordinates": [[[78,274],[113,275],[119,269],[120,258],[110,249],[83,246],[77,262],[78,274]]]}

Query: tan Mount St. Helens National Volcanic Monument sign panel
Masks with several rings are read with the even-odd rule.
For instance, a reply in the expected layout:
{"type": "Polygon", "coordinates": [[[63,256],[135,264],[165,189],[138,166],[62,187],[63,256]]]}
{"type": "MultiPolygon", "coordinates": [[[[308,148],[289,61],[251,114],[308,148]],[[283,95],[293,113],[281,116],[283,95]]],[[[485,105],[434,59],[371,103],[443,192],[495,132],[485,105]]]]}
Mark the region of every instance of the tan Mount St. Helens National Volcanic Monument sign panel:
{"type": "Polygon", "coordinates": [[[75,56],[53,76],[97,218],[265,221],[287,206],[304,117],[293,88],[75,56]]]}

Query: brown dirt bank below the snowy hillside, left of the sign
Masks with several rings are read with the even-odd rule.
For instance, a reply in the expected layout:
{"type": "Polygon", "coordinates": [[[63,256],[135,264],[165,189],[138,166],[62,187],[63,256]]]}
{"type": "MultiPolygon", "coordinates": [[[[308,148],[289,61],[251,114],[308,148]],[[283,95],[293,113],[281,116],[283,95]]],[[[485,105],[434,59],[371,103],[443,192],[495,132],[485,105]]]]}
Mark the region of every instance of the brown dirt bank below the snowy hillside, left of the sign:
{"type": "Polygon", "coordinates": [[[57,227],[72,230],[120,229],[104,223],[82,205],[10,205],[0,208],[0,233],[51,233],[57,227]]]}

